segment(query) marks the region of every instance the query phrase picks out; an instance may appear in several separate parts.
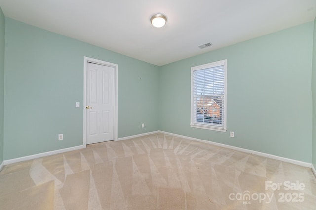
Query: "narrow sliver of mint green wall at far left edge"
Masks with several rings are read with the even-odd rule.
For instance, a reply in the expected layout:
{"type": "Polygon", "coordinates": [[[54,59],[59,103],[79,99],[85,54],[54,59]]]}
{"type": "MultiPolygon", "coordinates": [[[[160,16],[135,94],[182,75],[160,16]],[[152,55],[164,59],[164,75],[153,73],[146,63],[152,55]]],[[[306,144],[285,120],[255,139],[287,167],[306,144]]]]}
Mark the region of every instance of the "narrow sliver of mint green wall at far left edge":
{"type": "Polygon", "coordinates": [[[4,15],[0,7],[0,164],[3,161],[4,15]]]}

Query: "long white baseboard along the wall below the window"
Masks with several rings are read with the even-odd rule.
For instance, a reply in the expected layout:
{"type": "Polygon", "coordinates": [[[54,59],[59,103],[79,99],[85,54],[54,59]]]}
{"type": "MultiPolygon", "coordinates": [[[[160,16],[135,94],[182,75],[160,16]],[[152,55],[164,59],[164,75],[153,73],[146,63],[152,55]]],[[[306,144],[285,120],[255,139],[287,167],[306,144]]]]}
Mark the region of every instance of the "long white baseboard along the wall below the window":
{"type": "Polygon", "coordinates": [[[212,142],[212,141],[208,141],[208,140],[201,140],[201,139],[197,139],[197,138],[193,138],[193,137],[187,137],[187,136],[178,135],[178,134],[173,134],[173,133],[169,133],[169,132],[165,132],[165,131],[158,131],[158,132],[163,133],[163,134],[167,134],[167,135],[171,135],[171,136],[184,138],[184,139],[189,139],[189,140],[195,140],[195,141],[199,141],[199,142],[203,142],[203,143],[208,143],[208,144],[212,144],[212,145],[215,145],[215,146],[220,146],[220,147],[224,147],[224,148],[228,148],[228,149],[234,149],[234,150],[237,150],[237,151],[240,151],[240,152],[255,154],[255,155],[262,156],[262,157],[267,157],[267,158],[271,158],[271,159],[275,159],[275,160],[280,160],[280,161],[284,161],[284,162],[288,162],[288,163],[293,163],[293,164],[300,165],[300,166],[305,166],[305,167],[308,167],[308,168],[312,167],[311,163],[306,163],[306,162],[299,161],[299,160],[293,160],[293,159],[280,157],[280,156],[276,156],[276,155],[271,155],[271,154],[267,154],[267,153],[263,153],[263,152],[253,151],[253,150],[250,150],[250,149],[243,149],[243,148],[236,147],[236,146],[230,146],[230,145],[226,145],[226,144],[222,144],[222,143],[216,143],[216,142],[212,142]]]}

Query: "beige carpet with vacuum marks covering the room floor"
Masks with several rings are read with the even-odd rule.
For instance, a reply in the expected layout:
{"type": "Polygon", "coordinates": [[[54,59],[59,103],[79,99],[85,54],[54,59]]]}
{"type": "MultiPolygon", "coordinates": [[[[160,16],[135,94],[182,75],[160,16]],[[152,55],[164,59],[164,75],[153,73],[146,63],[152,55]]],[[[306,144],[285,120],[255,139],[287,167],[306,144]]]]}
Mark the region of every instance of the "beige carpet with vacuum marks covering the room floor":
{"type": "Polygon", "coordinates": [[[154,134],[7,165],[0,209],[316,209],[316,179],[302,166],[154,134]]]}

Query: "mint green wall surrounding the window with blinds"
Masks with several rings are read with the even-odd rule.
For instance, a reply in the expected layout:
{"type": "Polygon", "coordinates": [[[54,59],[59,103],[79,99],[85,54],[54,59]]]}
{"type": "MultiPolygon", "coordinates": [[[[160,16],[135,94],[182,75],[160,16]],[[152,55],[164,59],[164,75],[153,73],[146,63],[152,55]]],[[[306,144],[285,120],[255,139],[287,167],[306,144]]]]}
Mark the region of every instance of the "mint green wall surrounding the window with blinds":
{"type": "Polygon", "coordinates": [[[162,66],[160,130],[310,163],[312,35],[309,22],[162,66]],[[228,130],[191,128],[190,68],[223,59],[228,130]]]}

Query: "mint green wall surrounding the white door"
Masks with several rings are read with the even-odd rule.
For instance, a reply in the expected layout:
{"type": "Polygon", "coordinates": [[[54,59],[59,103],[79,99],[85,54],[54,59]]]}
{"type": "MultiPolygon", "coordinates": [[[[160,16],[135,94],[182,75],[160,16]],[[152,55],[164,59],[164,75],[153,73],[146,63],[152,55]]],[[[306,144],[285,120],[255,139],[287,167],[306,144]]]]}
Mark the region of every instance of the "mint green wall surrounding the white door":
{"type": "Polygon", "coordinates": [[[158,130],[158,66],[10,18],[5,36],[5,160],[82,145],[84,56],[118,64],[118,137],[158,130]]]}

